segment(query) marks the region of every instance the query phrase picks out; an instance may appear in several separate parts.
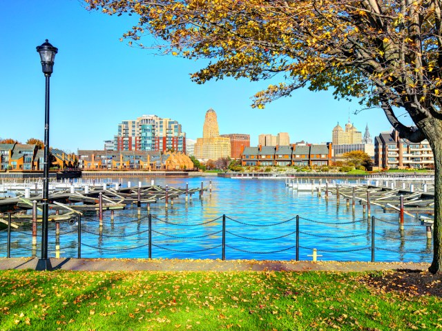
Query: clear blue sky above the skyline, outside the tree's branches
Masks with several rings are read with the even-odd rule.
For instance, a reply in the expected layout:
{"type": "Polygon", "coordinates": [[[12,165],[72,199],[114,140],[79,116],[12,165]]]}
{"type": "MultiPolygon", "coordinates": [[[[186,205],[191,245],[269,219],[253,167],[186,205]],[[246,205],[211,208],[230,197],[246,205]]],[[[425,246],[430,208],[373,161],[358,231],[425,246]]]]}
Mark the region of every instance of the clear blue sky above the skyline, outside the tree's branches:
{"type": "MultiPolygon", "coordinates": [[[[78,0],[14,0],[0,5],[0,137],[23,143],[44,139],[44,74],[36,46],[45,39],[59,48],[50,80],[50,146],[70,152],[102,149],[117,124],[142,114],[175,119],[191,139],[202,137],[206,110],[218,114],[220,134],[289,132],[291,142],[331,141],[332,128],[350,119],[372,137],[390,130],[382,110],[358,109],[332,92],[298,90],[292,97],[252,109],[267,81],[246,79],[193,83],[189,74],[204,63],[132,48],[119,38],[135,17],[88,12],[78,0]]],[[[142,41],[150,45],[148,40],[142,41]]]]}

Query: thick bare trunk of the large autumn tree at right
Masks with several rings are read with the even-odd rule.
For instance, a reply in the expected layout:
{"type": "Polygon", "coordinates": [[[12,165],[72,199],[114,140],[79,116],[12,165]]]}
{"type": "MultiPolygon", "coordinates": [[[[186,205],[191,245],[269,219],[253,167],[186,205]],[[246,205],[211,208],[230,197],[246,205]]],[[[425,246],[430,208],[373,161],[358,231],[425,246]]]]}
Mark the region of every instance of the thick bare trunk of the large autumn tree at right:
{"type": "Polygon", "coordinates": [[[434,225],[433,225],[433,261],[428,270],[432,274],[442,273],[442,121],[433,119],[433,123],[423,128],[434,155],[434,225]]]}

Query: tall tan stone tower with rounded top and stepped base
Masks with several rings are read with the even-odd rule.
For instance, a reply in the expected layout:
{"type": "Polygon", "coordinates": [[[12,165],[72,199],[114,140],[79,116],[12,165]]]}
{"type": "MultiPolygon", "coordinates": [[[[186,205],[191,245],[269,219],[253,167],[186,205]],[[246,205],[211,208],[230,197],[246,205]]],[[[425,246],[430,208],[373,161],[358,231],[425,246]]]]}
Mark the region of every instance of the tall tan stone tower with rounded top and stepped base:
{"type": "Polygon", "coordinates": [[[202,138],[196,139],[194,156],[203,161],[231,157],[230,139],[220,137],[218,119],[213,109],[206,112],[204,126],[202,127],[202,138]]]}

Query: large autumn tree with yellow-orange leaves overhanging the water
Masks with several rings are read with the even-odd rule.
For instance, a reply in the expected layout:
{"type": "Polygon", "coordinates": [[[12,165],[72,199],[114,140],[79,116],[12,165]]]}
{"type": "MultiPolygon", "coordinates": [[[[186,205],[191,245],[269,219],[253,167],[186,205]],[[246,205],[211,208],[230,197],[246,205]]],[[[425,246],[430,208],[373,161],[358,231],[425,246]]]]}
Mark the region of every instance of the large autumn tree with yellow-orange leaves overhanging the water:
{"type": "Polygon", "coordinates": [[[197,83],[279,74],[253,106],[294,90],[334,90],[336,98],[381,107],[401,137],[427,139],[435,164],[434,256],[442,272],[441,0],[85,0],[90,9],[135,14],[123,37],[164,39],[158,52],[212,59],[197,83]],[[396,112],[410,115],[405,126],[396,112]],[[396,111],[396,112],[395,112],[396,111]]]}

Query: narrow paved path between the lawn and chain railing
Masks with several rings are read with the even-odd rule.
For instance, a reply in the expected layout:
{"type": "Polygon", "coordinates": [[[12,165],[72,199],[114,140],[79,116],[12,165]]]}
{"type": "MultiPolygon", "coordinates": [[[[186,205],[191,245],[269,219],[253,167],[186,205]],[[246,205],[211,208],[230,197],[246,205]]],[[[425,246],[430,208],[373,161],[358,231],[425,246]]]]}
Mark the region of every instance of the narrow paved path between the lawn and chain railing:
{"type": "MultiPolygon", "coordinates": [[[[0,270],[32,269],[37,258],[0,258],[0,270]]],[[[368,271],[427,270],[428,263],[312,262],[191,259],[50,259],[52,268],[73,271],[368,271]]]]}

